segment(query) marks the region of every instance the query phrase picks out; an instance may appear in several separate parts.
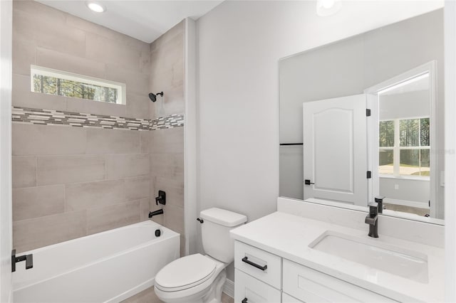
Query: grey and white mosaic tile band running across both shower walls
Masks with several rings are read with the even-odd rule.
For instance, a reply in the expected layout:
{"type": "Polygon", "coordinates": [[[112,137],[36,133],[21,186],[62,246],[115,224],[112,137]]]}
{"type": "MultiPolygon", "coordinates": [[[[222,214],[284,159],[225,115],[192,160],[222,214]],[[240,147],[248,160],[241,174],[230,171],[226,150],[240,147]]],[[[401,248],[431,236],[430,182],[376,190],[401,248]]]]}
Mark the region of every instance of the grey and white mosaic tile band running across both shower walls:
{"type": "Polygon", "coordinates": [[[135,119],[105,115],[91,115],[61,110],[41,110],[12,107],[12,121],[26,124],[68,125],[71,127],[99,127],[105,129],[156,130],[184,126],[184,115],[170,115],[157,119],[135,119]]]}

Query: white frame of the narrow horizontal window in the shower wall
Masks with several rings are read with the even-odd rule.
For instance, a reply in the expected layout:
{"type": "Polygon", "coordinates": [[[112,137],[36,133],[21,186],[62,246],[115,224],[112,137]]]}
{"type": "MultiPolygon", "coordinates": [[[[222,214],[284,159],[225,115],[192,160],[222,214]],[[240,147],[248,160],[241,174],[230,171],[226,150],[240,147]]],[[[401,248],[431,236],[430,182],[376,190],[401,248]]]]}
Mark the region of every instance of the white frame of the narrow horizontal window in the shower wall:
{"type": "MultiPolygon", "coordinates": [[[[30,90],[35,92],[33,85],[33,75],[43,75],[47,77],[59,78],[64,80],[71,80],[80,83],[87,83],[90,85],[98,85],[103,87],[110,87],[118,90],[118,98],[115,104],[125,105],[126,104],[126,85],[125,83],[114,82],[110,80],[104,80],[100,78],[89,77],[86,75],[79,75],[76,73],[70,73],[63,70],[54,70],[53,68],[43,68],[38,65],[30,65],[30,90]]],[[[81,100],[90,100],[82,99],[81,100]]],[[[91,100],[95,102],[103,102],[97,100],[91,100]]]]}

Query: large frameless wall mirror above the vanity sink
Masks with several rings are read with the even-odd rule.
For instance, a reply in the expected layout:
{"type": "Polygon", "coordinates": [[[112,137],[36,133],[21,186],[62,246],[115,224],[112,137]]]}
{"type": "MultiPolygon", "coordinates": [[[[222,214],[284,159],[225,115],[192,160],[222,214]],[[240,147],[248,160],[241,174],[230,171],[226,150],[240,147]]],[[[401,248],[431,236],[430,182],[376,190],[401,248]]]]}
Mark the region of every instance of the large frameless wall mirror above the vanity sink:
{"type": "Polygon", "coordinates": [[[444,218],[443,9],[280,60],[279,195],[444,218]]]}

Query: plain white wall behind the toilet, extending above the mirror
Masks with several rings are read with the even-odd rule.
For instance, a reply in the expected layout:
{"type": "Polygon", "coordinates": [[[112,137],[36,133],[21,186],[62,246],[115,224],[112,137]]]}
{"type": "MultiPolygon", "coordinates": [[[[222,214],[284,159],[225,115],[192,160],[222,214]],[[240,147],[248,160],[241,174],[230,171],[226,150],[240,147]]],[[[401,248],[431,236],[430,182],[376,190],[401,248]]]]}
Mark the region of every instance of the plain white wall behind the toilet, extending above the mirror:
{"type": "MultiPolygon", "coordinates": [[[[441,7],[440,1],[343,1],[328,18],[314,1],[224,1],[197,21],[200,209],[249,221],[279,195],[279,58],[441,7]],[[342,26],[343,25],[343,26],[342,26]]],[[[229,279],[233,279],[229,270],[229,279]]]]}

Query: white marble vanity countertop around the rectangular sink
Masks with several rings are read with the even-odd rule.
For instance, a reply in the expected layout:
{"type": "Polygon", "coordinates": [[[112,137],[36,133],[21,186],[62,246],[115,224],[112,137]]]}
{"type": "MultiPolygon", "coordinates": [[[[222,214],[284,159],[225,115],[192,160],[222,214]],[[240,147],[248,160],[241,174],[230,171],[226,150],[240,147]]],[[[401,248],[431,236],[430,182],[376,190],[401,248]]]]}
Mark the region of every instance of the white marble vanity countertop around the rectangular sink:
{"type": "Polygon", "coordinates": [[[368,225],[365,230],[358,230],[282,212],[271,213],[231,230],[232,238],[235,240],[400,302],[444,301],[444,249],[382,234],[380,238],[370,238],[367,233],[368,225]],[[327,230],[357,238],[368,238],[368,241],[387,243],[427,255],[428,282],[416,282],[309,248],[309,244],[327,230]]]}

